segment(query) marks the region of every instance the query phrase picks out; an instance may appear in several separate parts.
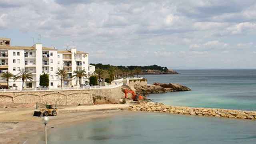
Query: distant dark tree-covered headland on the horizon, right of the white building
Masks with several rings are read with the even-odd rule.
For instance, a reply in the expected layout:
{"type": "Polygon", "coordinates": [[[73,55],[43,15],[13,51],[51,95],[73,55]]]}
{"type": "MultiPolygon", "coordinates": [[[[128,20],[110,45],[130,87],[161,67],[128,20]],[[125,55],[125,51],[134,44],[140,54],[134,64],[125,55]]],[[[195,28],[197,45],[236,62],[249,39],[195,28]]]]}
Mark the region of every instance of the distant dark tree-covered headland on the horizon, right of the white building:
{"type": "Polygon", "coordinates": [[[134,74],[179,74],[174,70],[170,70],[167,67],[158,65],[152,66],[112,66],[110,64],[90,64],[95,66],[96,69],[110,70],[117,69],[123,72],[134,72],[134,74]]]}

